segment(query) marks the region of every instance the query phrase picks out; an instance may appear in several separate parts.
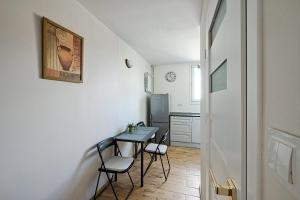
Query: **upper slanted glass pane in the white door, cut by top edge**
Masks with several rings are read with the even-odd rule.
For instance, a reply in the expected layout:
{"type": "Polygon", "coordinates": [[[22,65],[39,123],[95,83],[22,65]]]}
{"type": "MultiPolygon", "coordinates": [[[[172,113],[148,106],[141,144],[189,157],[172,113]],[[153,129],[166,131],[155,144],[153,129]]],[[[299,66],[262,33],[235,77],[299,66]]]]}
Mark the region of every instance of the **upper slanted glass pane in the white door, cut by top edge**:
{"type": "Polygon", "coordinates": [[[209,43],[212,46],[214,39],[218,33],[218,30],[223,22],[223,19],[226,14],[226,0],[219,0],[215,15],[213,17],[210,29],[209,29],[209,43]]]}

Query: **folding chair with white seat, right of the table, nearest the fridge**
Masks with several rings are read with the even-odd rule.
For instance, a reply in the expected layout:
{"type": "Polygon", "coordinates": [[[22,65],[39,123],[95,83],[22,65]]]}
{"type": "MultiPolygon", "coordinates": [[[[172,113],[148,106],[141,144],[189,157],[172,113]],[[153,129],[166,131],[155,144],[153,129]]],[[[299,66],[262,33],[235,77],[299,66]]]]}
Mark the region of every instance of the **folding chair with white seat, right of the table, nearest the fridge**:
{"type": "Polygon", "coordinates": [[[159,155],[160,157],[160,162],[161,162],[161,166],[164,172],[164,176],[165,176],[165,180],[168,179],[169,177],[169,173],[171,170],[171,165],[170,165],[170,161],[169,161],[169,156],[168,156],[168,146],[166,145],[166,141],[168,138],[168,134],[169,134],[169,130],[166,130],[165,133],[163,134],[163,136],[161,137],[159,143],[149,143],[146,148],[144,149],[145,152],[149,153],[151,156],[151,160],[148,164],[148,167],[144,173],[144,175],[146,175],[146,173],[148,172],[150,166],[152,165],[153,161],[155,160],[156,156],[159,155]],[[166,155],[167,160],[168,160],[168,165],[169,165],[169,169],[166,173],[165,167],[164,167],[164,163],[162,160],[162,156],[166,155]]]}

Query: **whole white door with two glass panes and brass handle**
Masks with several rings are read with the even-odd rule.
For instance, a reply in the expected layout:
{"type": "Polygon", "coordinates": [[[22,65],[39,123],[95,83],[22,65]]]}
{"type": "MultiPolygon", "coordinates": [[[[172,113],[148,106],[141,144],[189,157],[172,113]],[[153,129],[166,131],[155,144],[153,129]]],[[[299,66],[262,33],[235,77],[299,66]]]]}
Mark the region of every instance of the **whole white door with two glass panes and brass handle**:
{"type": "MultiPolygon", "coordinates": [[[[208,5],[209,168],[215,178],[210,180],[222,185],[233,180],[237,199],[246,199],[244,0],[212,0],[208,5]]],[[[230,199],[209,187],[210,200],[230,199]]]]}

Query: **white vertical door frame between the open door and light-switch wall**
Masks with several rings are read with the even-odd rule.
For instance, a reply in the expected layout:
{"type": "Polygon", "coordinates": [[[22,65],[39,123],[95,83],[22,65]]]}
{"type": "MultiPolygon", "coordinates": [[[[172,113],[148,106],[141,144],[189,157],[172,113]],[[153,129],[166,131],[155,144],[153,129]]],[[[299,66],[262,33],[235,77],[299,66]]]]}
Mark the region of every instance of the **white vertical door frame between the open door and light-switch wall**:
{"type": "Polygon", "coordinates": [[[247,200],[262,198],[262,1],[247,2],[247,200]]]}

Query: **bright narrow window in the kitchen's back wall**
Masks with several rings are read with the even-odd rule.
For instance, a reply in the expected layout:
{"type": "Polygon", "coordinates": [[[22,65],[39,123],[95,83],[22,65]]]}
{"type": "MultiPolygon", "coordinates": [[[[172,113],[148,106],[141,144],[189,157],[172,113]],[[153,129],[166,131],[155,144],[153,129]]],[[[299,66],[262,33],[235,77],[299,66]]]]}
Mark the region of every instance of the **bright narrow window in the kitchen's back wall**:
{"type": "Polygon", "coordinates": [[[191,67],[191,100],[192,103],[200,103],[201,99],[201,69],[200,65],[191,67]]]}

